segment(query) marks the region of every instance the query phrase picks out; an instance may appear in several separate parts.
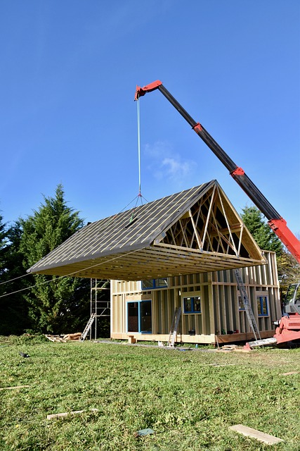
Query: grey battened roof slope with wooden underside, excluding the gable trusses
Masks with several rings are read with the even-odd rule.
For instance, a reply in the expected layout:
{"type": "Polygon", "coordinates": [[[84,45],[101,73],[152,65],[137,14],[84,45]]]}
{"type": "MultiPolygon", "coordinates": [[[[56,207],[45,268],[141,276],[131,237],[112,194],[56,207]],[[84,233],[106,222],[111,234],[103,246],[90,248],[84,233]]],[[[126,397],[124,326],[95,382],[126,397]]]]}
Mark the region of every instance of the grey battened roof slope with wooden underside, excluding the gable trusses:
{"type": "Polygon", "coordinates": [[[255,259],[240,259],[237,264],[237,257],[230,256],[227,261],[222,261],[221,254],[216,252],[209,255],[208,252],[183,248],[174,252],[174,249],[153,246],[164,230],[215,185],[219,186],[216,180],[212,180],[91,223],[34,264],[28,272],[141,280],[262,264],[257,252],[255,259]]]}

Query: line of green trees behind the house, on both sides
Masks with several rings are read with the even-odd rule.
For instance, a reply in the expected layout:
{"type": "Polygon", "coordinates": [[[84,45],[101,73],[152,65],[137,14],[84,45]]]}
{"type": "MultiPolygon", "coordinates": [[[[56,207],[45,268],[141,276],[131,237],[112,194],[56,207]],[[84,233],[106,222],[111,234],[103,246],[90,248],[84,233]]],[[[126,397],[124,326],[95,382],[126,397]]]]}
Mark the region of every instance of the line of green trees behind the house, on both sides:
{"type": "MultiPolygon", "coordinates": [[[[299,264],[261,212],[255,206],[245,207],[241,217],[259,247],[276,253],[282,287],[300,279],[299,264]]],[[[67,206],[62,185],[56,187],[54,197],[44,196],[37,210],[11,226],[0,214],[0,335],[84,329],[90,315],[89,279],[26,273],[83,226],[79,211],[67,206]]]]}

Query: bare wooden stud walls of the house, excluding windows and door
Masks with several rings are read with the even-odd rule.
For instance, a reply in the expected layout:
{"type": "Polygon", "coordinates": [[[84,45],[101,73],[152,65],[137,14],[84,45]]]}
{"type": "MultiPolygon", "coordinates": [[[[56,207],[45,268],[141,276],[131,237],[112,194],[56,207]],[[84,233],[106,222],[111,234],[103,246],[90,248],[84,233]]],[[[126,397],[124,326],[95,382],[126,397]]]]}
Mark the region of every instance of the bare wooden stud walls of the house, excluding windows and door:
{"type": "MultiPolygon", "coordinates": [[[[265,252],[267,265],[242,268],[244,286],[261,332],[273,333],[280,318],[279,285],[275,254],[265,252]],[[258,316],[256,296],[268,297],[268,316],[258,316]]],[[[183,297],[200,295],[201,314],[182,314],[178,336],[184,342],[215,342],[215,334],[238,330],[251,333],[245,311],[239,309],[237,283],[232,270],[168,278],[168,288],[141,291],[139,282],[112,280],[112,338],[126,338],[126,303],[152,299],[152,334],[138,340],[159,340],[169,334],[171,320],[183,297]],[[195,337],[189,335],[195,330],[195,337]]],[[[181,307],[183,307],[181,305],[181,307]]],[[[221,335],[222,337],[222,335],[221,335]]],[[[234,334],[238,340],[238,334],[234,334]]],[[[230,340],[230,337],[228,338],[230,340]]]]}

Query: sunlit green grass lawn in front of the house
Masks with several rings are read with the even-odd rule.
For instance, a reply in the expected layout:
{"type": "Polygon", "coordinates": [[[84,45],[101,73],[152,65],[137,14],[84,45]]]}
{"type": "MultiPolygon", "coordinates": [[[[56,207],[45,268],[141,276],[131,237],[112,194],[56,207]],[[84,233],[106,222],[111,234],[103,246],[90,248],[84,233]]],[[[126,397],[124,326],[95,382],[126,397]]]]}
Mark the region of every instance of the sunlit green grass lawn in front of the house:
{"type": "Polygon", "coordinates": [[[0,390],[1,451],[300,450],[300,349],[1,340],[0,387],[30,385],[0,390]],[[298,373],[283,376],[291,371],[298,373]],[[46,419],[77,410],[84,412],[46,419]],[[285,442],[246,438],[228,429],[235,424],[285,442]],[[145,428],[155,433],[138,436],[145,428]]]}

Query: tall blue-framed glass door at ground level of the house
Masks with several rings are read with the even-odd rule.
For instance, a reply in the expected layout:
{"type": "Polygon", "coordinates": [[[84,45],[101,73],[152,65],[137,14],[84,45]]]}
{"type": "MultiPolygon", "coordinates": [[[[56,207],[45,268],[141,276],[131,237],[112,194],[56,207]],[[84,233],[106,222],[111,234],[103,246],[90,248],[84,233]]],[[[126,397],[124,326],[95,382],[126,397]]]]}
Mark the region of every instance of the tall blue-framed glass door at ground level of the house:
{"type": "Polygon", "coordinates": [[[152,333],[151,301],[127,302],[127,331],[152,333]]]}

